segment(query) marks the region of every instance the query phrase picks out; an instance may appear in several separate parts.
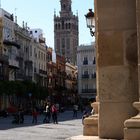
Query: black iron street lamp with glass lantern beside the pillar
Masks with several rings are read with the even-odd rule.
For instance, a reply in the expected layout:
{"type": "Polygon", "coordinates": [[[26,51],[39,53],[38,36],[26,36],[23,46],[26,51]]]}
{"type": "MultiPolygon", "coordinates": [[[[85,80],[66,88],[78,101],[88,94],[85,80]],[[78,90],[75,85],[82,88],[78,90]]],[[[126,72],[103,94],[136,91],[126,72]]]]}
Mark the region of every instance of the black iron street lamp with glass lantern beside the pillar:
{"type": "Polygon", "coordinates": [[[85,15],[85,17],[86,17],[87,27],[90,29],[90,34],[91,36],[94,36],[95,31],[93,31],[92,29],[95,28],[95,18],[92,9],[89,9],[89,12],[85,15]]]}

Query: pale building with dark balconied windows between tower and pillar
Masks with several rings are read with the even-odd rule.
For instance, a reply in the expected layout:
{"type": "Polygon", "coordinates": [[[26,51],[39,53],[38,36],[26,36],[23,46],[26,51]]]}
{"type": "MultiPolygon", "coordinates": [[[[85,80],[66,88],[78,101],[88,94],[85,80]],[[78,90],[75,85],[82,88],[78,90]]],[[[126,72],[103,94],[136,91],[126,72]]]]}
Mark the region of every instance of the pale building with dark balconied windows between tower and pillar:
{"type": "Polygon", "coordinates": [[[78,93],[81,98],[96,97],[96,49],[95,44],[77,48],[78,93]]]}

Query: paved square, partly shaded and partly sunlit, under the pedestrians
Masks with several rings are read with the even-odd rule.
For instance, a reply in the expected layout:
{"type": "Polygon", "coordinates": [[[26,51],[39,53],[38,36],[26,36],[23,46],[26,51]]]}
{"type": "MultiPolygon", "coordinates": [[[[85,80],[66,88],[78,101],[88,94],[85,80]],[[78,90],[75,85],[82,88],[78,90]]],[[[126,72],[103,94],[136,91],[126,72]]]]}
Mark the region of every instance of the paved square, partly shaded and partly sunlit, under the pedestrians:
{"type": "Polygon", "coordinates": [[[0,140],[65,140],[68,137],[81,135],[82,114],[72,118],[72,111],[60,113],[58,124],[43,124],[43,115],[38,117],[38,123],[32,124],[32,116],[25,116],[24,124],[12,124],[13,117],[0,118],[0,140]]]}

